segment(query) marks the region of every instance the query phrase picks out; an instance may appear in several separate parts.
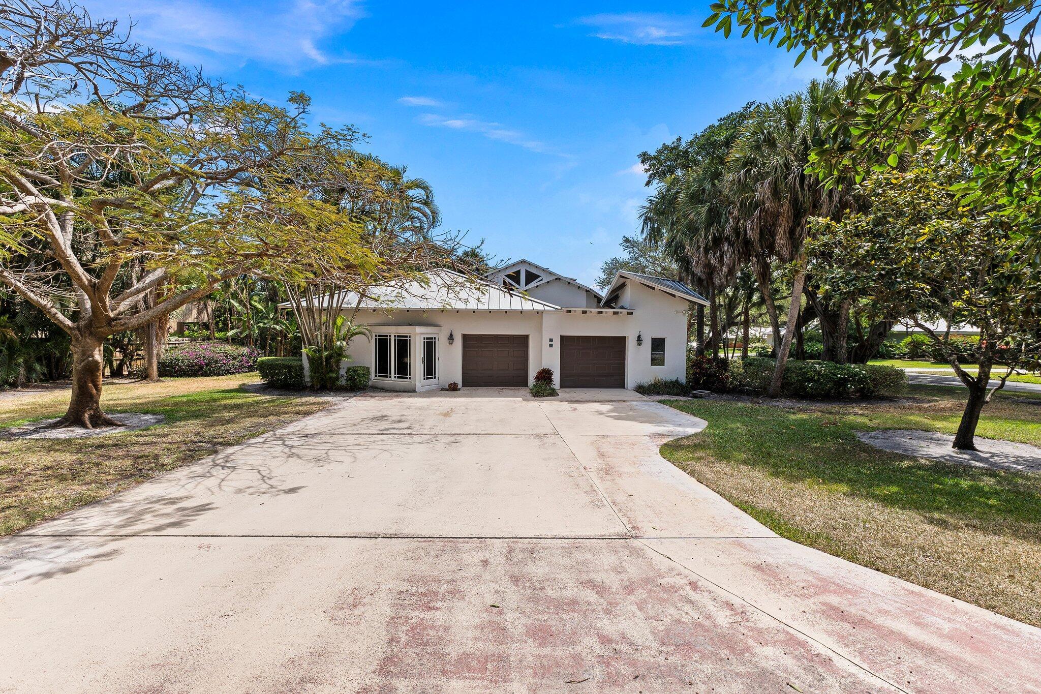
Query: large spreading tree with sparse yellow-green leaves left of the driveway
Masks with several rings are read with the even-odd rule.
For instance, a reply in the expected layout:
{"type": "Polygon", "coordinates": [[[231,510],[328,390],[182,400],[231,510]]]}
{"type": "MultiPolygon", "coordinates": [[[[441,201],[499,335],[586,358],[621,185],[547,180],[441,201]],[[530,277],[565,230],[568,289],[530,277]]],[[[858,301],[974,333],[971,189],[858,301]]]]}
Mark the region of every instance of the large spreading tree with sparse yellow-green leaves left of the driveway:
{"type": "Polygon", "coordinates": [[[307,98],[290,102],[207,82],[75,5],[0,11],[0,283],[71,337],[58,426],[119,423],[100,402],[113,333],[244,272],[366,262],[359,230],[316,195],[358,134],[312,132],[307,98]]]}

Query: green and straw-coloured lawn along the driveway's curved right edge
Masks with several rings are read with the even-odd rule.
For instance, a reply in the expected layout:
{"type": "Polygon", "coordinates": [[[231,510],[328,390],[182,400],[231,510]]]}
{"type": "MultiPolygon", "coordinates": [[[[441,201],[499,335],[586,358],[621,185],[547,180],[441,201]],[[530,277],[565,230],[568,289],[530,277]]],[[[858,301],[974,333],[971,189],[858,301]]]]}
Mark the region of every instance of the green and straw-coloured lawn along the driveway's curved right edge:
{"type": "MultiPolygon", "coordinates": [[[[1041,399],[1015,397],[987,406],[980,435],[1041,445],[1041,399]]],[[[953,389],[797,409],[667,404],[709,427],[662,455],[778,534],[1041,625],[1041,473],[914,459],[856,438],[873,429],[953,434],[964,405],[953,389]]]]}

